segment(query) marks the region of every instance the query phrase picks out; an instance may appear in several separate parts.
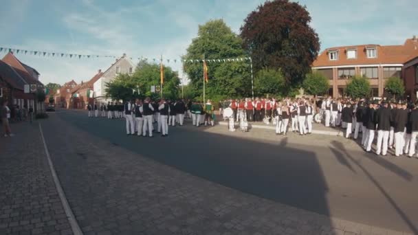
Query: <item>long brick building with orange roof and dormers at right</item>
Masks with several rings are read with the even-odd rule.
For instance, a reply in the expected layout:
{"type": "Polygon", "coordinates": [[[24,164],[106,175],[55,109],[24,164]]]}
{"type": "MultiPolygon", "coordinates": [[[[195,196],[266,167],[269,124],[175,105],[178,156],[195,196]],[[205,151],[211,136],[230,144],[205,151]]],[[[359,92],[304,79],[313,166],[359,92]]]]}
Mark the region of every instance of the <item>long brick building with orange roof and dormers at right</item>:
{"type": "Polygon", "coordinates": [[[312,69],[329,79],[329,96],[334,98],[344,96],[349,78],[364,76],[369,78],[371,96],[385,96],[386,80],[399,77],[406,85],[406,95],[415,99],[415,88],[411,88],[412,83],[413,86],[417,84],[415,58],[418,58],[418,41],[417,37],[413,36],[406,39],[404,45],[327,48],[316,58],[312,69]]]}

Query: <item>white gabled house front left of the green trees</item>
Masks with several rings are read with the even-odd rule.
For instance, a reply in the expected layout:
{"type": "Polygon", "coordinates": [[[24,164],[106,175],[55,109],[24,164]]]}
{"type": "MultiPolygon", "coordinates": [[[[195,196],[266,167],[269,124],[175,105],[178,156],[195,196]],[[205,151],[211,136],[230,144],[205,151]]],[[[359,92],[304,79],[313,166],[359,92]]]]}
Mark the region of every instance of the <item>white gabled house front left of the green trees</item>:
{"type": "Polygon", "coordinates": [[[93,89],[96,101],[104,104],[111,101],[111,99],[107,98],[107,83],[114,80],[119,74],[133,74],[134,71],[135,65],[133,65],[132,61],[126,57],[126,54],[123,54],[121,58],[116,59],[115,63],[104,71],[103,75],[94,82],[93,89]]]}

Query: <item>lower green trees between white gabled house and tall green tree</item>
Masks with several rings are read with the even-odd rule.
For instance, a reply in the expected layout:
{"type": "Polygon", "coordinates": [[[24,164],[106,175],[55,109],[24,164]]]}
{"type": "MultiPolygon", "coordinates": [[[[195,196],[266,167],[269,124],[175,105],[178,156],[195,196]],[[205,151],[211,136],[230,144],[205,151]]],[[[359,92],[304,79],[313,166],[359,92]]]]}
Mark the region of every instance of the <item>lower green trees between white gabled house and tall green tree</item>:
{"type": "MultiPolygon", "coordinates": [[[[177,72],[170,67],[164,66],[163,97],[169,99],[179,98],[179,83],[177,72]]],[[[151,86],[159,87],[159,85],[159,65],[149,63],[147,60],[140,60],[135,73],[132,75],[120,74],[107,85],[107,93],[109,97],[115,100],[131,100],[133,98],[144,98],[145,96],[159,98],[159,92],[151,92],[151,86]]]]}

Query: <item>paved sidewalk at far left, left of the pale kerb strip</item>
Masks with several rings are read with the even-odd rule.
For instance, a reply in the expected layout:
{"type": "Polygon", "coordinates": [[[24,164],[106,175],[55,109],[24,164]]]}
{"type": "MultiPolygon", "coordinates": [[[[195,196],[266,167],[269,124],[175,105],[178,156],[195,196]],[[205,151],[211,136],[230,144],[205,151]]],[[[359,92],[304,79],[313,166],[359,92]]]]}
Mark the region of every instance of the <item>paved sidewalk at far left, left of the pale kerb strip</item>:
{"type": "Polygon", "coordinates": [[[36,122],[0,138],[0,234],[72,234],[36,122]]]}

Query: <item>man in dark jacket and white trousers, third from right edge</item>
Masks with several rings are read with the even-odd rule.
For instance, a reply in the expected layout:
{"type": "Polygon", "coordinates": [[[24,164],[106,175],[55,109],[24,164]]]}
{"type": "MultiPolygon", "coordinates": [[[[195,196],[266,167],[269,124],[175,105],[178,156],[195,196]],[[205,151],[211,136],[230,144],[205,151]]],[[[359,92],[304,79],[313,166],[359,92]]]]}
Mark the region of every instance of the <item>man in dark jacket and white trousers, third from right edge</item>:
{"type": "Polygon", "coordinates": [[[377,123],[377,149],[376,154],[386,156],[388,152],[389,131],[391,131],[391,109],[388,109],[388,103],[382,102],[382,107],[376,113],[377,123]]]}

